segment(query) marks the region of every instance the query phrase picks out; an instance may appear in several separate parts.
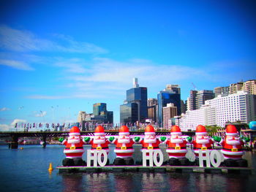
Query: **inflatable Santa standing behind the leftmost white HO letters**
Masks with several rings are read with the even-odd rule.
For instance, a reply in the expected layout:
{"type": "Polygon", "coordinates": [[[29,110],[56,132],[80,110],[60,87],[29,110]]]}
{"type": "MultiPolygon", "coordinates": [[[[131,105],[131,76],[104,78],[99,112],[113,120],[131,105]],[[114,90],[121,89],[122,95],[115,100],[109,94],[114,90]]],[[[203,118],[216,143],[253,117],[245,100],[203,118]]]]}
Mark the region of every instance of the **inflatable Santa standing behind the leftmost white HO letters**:
{"type": "MultiPolygon", "coordinates": [[[[91,145],[91,150],[105,150],[109,153],[108,145],[110,144],[109,140],[105,137],[105,130],[102,126],[97,126],[94,131],[94,138],[85,137],[85,142],[91,145]]],[[[103,158],[103,156],[102,156],[103,158]]],[[[107,162],[109,164],[109,161],[107,162]]]]}

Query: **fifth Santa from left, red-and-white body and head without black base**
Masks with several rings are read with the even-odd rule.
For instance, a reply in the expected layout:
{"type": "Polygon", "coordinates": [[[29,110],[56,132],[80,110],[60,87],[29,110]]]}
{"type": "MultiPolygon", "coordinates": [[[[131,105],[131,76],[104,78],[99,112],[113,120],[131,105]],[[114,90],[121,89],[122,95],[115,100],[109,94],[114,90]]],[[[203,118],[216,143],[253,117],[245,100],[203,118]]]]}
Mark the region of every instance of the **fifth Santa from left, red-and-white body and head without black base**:
{"type": "Polygon", "coordinates": [[[166,152],[169,158],[185,158],[187,153],[187,141],[181,137],[181,128],[173,126],[170,129],[170,139],[167,140],[166,152]]]}

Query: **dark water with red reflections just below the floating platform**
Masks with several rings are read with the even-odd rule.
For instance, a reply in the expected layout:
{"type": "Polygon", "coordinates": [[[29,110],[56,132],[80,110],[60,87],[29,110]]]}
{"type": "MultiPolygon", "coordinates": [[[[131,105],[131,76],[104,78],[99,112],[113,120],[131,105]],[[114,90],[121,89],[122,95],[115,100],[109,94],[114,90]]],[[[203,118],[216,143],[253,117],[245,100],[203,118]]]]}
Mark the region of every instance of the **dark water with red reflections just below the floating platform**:
{"type": "Polygon", "coordinates": [[[61,174],[63,191],[248,191],[244,174],[206,173],[80,173],[61,174]]]}

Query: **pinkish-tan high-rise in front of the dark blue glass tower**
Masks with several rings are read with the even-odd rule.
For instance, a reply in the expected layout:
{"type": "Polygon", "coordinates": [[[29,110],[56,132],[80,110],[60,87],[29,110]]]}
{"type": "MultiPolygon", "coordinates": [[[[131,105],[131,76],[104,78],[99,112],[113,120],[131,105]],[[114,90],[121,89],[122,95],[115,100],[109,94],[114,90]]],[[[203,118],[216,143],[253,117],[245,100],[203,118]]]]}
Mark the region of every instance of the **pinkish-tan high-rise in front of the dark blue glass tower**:
{"type": "Polygon", "coordinates": [[[177,115],[177,107],[174,104],[167,104],[166,107],[162,107],[162,116],[163,116],[163,128],[170,128],[172,125],[169,125],[170,118],[173,118],[177,115]]]}

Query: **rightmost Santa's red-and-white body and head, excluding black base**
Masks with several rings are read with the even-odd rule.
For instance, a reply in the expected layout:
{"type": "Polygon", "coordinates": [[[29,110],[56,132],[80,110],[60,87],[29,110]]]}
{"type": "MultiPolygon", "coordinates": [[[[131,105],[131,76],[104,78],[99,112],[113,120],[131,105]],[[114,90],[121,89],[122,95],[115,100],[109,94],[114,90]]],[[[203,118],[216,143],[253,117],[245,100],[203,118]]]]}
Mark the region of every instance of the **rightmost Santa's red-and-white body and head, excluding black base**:
{"type": "Polygon", "coordinates": [[[236,126],[228,125],[226,128],[225,140],[220,142],[222,144],[222,154],[225,159],[240,159],[244,155],[244,142],[240,141],[236,126]]]}

